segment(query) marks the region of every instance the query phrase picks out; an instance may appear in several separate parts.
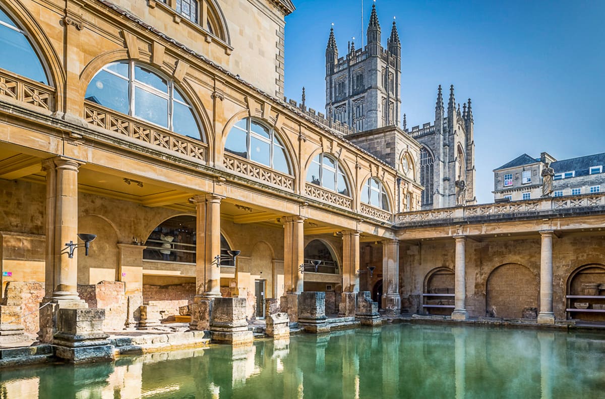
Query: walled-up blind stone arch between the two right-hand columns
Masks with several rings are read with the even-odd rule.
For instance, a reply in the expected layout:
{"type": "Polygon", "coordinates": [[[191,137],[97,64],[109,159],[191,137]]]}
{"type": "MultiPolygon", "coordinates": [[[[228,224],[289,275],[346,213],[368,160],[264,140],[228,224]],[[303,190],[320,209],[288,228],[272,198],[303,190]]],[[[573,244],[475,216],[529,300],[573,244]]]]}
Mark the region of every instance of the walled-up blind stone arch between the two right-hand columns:
{"type": "Polygon", "coordinates": [[[485,289],[485,314],[511,319],[535,319],[540,281],[529,268],[507,263],[495,268],[485,289]]]}

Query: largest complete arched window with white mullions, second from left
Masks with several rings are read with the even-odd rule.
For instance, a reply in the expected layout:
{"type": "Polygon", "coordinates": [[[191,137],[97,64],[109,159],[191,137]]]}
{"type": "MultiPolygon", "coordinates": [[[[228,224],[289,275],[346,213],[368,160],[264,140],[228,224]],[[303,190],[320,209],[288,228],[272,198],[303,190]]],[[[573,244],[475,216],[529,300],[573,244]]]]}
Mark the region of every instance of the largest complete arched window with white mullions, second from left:
{"type": "Polygon", "coordinates": [[[85,98],[175,133],[203,140],[193,109],[175,83],[132,60],[103,66],[88,85],[85,98]]]}

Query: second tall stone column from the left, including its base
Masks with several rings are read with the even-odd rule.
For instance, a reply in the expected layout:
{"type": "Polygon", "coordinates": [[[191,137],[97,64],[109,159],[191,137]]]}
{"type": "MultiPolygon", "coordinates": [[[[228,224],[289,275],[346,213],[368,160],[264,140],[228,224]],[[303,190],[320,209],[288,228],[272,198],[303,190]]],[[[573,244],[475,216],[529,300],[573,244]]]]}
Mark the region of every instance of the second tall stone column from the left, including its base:
{"type": "Polygon", "coordinates": [[[221,200],[217,194],[195,195],[195,297],[191,306],[191,329],[208,329],[212,299],[221,296],[221,200]]]}

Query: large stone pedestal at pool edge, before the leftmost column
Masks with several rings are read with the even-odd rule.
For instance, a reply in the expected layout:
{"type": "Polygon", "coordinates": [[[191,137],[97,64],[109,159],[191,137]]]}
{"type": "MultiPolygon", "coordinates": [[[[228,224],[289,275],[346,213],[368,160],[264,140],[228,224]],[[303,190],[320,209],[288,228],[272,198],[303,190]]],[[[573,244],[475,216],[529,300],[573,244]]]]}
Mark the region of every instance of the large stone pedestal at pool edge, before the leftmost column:
{"type": "Polygon", "coordinates": [[[105,309],[59,309],[55,355],[70,363],[113,360],[114,346],[103,332],[105,309]]]}

